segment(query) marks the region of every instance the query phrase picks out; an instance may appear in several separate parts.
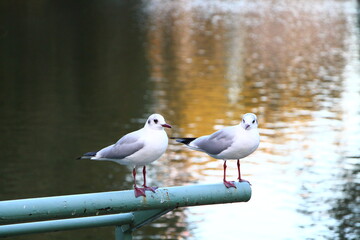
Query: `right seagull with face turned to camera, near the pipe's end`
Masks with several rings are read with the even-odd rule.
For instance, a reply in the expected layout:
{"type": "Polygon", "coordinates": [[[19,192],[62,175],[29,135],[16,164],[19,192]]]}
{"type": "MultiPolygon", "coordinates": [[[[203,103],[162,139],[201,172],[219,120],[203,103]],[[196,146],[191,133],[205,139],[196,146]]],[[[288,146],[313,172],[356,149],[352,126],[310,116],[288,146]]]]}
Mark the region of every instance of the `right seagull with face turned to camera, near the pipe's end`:
{"type": "Polygon", "coordinates": [[[226,181],[226,161],[237,160],[239,182],[248,182],[241,178],[240,159],[249,156],[259,146],[260,135],[257,117],[253,113],[246,113],[240,124],[225,127],[211,135],[198,138],[172,138],[185,144],[188,148],[207,153],[216,159],[224,160],[224,185],[236,188],[234,182],[226,181]]]}

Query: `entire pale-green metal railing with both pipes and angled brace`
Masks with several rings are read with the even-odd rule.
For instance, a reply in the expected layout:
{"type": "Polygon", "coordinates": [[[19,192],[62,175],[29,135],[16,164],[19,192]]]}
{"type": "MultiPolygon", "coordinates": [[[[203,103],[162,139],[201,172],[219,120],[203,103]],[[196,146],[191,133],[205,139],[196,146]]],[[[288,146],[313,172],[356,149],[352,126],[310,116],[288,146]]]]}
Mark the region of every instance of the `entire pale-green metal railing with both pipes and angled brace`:
{"type": "Polygon", "coordinates": [[[236,182],[159,188],[135,198],[133,190],[0,201],[0,237],[115,226],[117,240],[177,207],[247,202],[251,187],[236,182]]]}

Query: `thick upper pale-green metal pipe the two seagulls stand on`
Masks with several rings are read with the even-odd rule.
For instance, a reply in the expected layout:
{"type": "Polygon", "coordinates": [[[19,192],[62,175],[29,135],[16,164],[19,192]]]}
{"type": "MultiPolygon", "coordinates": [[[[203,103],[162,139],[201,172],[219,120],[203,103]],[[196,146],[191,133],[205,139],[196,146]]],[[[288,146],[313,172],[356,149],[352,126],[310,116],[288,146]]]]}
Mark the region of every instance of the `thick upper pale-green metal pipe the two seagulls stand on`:
{"type": "Polygon", "coordinates": [[[159,188],[155,193],[146,192],[146,198],[135,198],[133,190],[126,190],[0,201],[0,225],[249,201],[251,198],[249,183],[236,182],[235,185],[236,188],[226,188],[222,183],[159,188]]]}

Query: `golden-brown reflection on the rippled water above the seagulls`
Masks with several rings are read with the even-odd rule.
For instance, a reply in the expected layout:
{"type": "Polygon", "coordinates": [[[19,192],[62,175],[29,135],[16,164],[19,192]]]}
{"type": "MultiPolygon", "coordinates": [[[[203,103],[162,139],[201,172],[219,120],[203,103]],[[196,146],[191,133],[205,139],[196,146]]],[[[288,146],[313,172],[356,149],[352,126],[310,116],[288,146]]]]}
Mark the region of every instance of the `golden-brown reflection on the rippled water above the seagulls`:
{"type": "MultiPolygon", "coordinates": [[[[314,8],[286,2],[224,12],[183,1],[149,7],[154,99],[160,111],[171,111],[173,135],[208,134],[254,112],[262,142],[286,144],[305,134],[312,112],[341,117],[335,99],[342,91],[346,13],[322,9],[323,1],[314,8]],[[294,123],[302,127],[283,131],[294,123]]],[[[267,146],[261,150],[271,154],[267,146]]]]}

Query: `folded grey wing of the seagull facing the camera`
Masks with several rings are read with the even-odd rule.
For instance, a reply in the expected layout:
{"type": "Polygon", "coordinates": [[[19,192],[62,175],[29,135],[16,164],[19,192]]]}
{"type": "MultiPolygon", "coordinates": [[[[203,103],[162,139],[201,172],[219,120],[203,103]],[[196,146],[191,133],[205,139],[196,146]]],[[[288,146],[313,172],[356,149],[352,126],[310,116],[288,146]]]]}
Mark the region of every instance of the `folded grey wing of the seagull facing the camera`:
{"type": "Polygon", "coordinates": [[[216,155],[233,144],[234,136],[230,131],[219,130],[209,136],[197,138],[193,145],[208,154],[216,155]]]}

